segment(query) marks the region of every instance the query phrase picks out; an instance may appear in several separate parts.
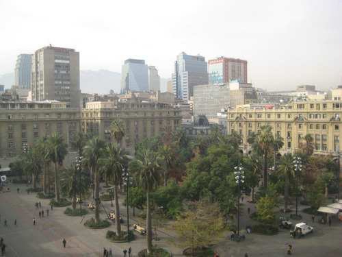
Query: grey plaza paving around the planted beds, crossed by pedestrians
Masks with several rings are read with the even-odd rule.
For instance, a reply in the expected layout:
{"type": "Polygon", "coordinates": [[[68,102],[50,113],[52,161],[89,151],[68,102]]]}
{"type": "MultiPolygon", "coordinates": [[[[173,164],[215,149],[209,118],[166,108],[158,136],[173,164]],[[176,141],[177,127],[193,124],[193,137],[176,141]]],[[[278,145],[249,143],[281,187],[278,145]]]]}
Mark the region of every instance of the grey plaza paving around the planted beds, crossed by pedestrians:
{"type": "MultiPolygon", "coordinates": [[[[5,256],[103,256],[103,247],[109,249],[111,247],[113,256],[123,256],[122,251],[132,248],[133,256],[137,256],[137,252],[146,248],[146,236],[136,233],[137,238],[131,243],[111,243],[105,239],[107,230],[114,230],[114,225],[102,230],[90,230],[83,226],[84,221],[94,217],[93,212],[83,217],[68,217],[63,214],[64,208],[53,208],[49,217],[44,214],[40,218],[38,215],[39,208],[36,209],[34,204],[37,201],[42,203],[42,209],[49,208],[48,199],[36,198],[36,193],[25,193],[26,185],[8,184],[11,189],[9,193],[0,194],[0,236],[3,237],[6,247],[5,256]],[[21,188],[21,193],[16,192],[16,188],[21,188]],[[36,218],[36,225],[33,225],[32,219],[36,218]],[[3,225],[3,220],[7,219],[8,226],[3,225]],[[17,226],[14,226],[14,220],[17,220],[17,226]],[[83,221],[82,221],[83,219],[83,221]],[[66,248],[63,247],[62,241],[66,238],[66,248]]],[[[120,201],[123,196],[120,195],[120,201]]],[[[262,236],[258,234],[247,234],[246,225],[253,225],[247,215],[247,208],[251,212],[255,211],[255,205],[249,204],[245,197],[244,215],[241,216],[241,234],[246,234],[246,240],[241,242],[231,241],[231,232],[222,236],[222,242],[214,246],[214,249],[221,257],[231,257],[234,254],[244,256],[247,252],[249,257],[252,256],[285,256],[287,255],[287,245],[291,244],[292,254],[295,256],[341,256],[342,254],[342,221],[337,218],[332,219],[332,225],[321,225],[317,223],[319,217],[315,218],[315,223],[311,221],[311,215],[302,212],[299,206],[299,213],[303,219],[301,221],[291,220],[292,223],[306,221],[309,225],[313,225],[315,231],[307,234],[299,239],[293,239],[289,236],[289,230],[281,230],[275,236],[262,236]]],[[[88,201],[89,202],[89,201],[88,201]]],[[[327,203],[330,203],[327,201],[327,203]]],[[[103,202],[107,210],[111,208],[111,202],[103,202]]],[[[293,210],[295,206],[289,206],[293,210]]],[[[126,223],[126,208],[120,208],[122,217],[126,223]]],[[[281,214],[278,214],[280,217],[281,214]]],[[[285,215],[289,217],[289,214],[285,215]]],[[[105,212],[101,210],[101,218],[105,218],[105,212]]],[[[130,210],[130,225],[137,223],[137,219],[133,217],[133,210],[130,210]],[[131,219],[131,217],[133,219],[131,219]]],[[[127,230],[125,223],[122,230],[127,230]]],[[[182,249],[170,244],[168,239],[172,237],[172,233],[168,228],[163,228],[158,233],[159,241],[153,241],[159,247],[163,247],[172,252],[173,256],[182,256],[182,249]]]]}

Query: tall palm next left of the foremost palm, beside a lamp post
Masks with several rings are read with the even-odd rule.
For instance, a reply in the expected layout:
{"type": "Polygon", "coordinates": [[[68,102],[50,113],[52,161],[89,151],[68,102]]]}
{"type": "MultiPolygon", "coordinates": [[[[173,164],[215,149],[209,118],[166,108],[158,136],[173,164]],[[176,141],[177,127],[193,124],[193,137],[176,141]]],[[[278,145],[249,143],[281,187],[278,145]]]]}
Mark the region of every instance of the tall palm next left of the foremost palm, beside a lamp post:
{"type": "Polygon", "coordinates": [[[122,148],[118,143],[115,145],[107,145],[98,162],[100,163],[99,171],[102,174],[106,174],[105,177],[110,179],[114,184],[115,228],[116,234],[119,235],[121,233],[121,225],[118,186],[122,182],[122,170],[124,167],[127,167],[127,157],[124,148],[122,148]]]}

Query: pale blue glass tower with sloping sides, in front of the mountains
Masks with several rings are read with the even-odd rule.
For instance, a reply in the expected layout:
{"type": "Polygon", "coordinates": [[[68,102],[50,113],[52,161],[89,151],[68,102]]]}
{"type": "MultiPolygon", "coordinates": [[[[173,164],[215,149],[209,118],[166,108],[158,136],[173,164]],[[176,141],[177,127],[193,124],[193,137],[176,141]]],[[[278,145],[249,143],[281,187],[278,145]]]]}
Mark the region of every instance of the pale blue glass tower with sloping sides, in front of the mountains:
{"type": "Polygon", "coordinates": [[[148,92],[148,67],[144,60],[128,59],[122,65],[121,93],[127,90],[148,92]]]}

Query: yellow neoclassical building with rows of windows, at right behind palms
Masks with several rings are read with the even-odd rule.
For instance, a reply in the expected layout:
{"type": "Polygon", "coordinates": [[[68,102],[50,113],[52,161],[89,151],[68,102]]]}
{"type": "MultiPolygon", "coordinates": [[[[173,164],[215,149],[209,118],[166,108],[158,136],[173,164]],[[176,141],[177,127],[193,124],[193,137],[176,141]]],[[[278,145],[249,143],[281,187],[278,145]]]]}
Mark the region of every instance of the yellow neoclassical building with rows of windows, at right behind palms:
{"type": "Polygon", "coordinates": [[[295,101],[275,107],[237,106],[227,111],[227,131],[235,130],[242,136],[244,149],[249,149],[248,134],[257,133],[263,125],[271,125],[273,133],[284,138],[280,151],[293,152],[311,134],[314,154],[333,154],[340,150],[342,136],[342,101],[295,101]]]}

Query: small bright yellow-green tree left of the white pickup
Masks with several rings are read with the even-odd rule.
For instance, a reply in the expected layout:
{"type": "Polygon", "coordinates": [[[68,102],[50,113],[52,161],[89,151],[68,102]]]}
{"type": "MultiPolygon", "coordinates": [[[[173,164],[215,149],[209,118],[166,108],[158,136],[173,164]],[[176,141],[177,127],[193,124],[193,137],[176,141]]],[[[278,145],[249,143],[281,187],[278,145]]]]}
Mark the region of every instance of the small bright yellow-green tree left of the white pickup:
{"type": "Polygon", "coordinates": [[[258,221],[265,224],[272,224],[276,221],[276,212],[274,208],[276,207],[276,201],[274,197],[266,195],[261,197],[257,203],[257,219],[258,221]]]}

